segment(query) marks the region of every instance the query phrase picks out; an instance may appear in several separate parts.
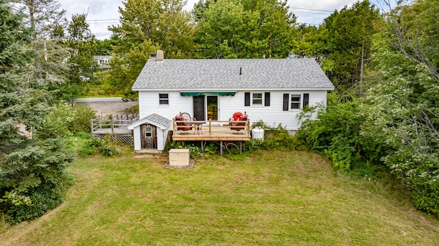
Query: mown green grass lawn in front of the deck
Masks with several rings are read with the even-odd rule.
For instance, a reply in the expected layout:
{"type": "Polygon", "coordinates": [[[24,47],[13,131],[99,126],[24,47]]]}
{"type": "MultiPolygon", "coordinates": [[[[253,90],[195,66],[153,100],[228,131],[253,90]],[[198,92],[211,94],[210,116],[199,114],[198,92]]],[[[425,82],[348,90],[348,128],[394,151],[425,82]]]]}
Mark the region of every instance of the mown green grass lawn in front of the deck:
{"type": "Polygon", "coordinates": [[[75,161],[64,203],[8,227],[2,245],[439,245],[439,221],[380,182],[313,153],[165,169],[165,155],[75,161]]]}

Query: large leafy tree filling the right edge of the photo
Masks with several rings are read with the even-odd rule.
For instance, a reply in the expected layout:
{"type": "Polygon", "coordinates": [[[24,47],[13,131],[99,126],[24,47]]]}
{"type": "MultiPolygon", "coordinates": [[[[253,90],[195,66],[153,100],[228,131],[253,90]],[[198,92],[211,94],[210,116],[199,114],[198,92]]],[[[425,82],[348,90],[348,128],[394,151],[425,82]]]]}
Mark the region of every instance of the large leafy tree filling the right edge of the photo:
{"type": "Polygon", "coordinates": [[[375,39],[381,83],[368,91],[363,132],[389,149],[382,160],[414,205],[439,217],[438,11],[439,1],[418,0],[388,15],[375,39]]]}

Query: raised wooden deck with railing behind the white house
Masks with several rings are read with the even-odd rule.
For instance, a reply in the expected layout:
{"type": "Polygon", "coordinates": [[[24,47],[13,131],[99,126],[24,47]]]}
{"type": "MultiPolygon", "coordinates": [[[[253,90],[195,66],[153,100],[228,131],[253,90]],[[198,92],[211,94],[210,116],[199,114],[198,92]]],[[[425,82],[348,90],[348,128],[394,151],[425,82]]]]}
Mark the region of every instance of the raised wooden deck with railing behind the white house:
{"type": "Polygon", "coordinates": [[[190,130],[184,131],[187,127],[176,125],[173,121],[172,140],[175,141],[248,141],[250,140],[250,121],[238,127],[241,130],[231,130],[229,122],[237,121],[183,121],[189,125],[190,130]]]}

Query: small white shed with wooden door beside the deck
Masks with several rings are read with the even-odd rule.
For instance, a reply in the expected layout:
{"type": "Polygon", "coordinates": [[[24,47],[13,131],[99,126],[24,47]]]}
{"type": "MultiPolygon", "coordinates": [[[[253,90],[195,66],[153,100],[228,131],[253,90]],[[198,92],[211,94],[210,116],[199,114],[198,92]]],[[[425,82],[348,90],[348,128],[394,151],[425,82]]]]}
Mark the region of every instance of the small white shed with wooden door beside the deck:
{"type": "Polygon", "coordinates": [[[134,134],[134,151],[165,149],[172,121],[158,114],[150,114],[128,125],[134,134]]]}

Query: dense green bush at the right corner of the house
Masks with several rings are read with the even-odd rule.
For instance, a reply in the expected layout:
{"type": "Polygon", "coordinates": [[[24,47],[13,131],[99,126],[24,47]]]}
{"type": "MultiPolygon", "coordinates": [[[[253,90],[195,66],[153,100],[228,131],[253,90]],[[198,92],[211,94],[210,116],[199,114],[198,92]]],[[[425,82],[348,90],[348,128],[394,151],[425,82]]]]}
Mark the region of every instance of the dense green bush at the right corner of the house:
{"type": "Polygon", "coordinates": [[[359,114],[361,101],[340,102],[329,96],[327,108],[318,108],[317,119],[306,119],[298,131],[298,142],[325,153],[335,169],[361,169],[368,163],[381,165],[383,150],[361,134],[365,118],[359,114]]]}

